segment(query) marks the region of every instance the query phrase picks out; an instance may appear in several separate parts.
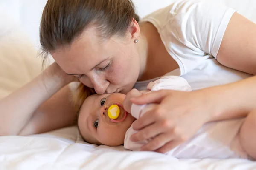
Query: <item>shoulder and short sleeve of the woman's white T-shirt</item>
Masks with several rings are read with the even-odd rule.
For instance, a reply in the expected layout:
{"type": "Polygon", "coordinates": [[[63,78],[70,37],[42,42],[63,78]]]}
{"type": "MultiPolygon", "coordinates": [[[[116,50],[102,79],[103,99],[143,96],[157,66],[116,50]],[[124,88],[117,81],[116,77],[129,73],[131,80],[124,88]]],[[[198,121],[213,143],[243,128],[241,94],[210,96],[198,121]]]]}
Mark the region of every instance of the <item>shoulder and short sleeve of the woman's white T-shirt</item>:
{"type": "Polygon", "coordinates": [[[206,0],[177,0],[141,20],[158,30],[170,56],[186,74],[205,59],[216,57],[235,10],[206,0]]]}

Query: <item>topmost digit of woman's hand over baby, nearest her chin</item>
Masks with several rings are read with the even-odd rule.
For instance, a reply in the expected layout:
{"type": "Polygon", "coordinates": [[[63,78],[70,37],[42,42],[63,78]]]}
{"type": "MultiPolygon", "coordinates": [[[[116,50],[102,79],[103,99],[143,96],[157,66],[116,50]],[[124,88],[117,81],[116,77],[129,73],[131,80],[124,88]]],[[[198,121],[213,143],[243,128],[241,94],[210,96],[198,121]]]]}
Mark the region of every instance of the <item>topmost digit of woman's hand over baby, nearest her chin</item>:
{"type": "Polygon", "coordinates": [[[142,94],[141,96],[131,98],[131,102],[137,105],[144,105],[148,103],[159,103],[166,96],[166,90],[153,91],[150,93],[142,94]]]}

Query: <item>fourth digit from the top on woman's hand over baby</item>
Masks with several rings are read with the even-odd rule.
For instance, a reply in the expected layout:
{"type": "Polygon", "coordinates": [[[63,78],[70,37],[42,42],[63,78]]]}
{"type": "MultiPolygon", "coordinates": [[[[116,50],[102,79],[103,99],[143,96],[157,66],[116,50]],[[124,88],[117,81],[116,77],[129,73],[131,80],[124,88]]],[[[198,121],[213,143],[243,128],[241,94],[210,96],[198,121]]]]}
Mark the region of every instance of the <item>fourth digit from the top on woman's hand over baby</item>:
{"type": "Polygon", "coordinates": [[[154,139],[152,139],[148,144],[145,144],[143,147],[141,147],[141,151],[153,151],[157,150],[158,148],[163,147],[166,143],[174,139],[174,136],[170,136],[167,133],[162,133],[154,139]]]}

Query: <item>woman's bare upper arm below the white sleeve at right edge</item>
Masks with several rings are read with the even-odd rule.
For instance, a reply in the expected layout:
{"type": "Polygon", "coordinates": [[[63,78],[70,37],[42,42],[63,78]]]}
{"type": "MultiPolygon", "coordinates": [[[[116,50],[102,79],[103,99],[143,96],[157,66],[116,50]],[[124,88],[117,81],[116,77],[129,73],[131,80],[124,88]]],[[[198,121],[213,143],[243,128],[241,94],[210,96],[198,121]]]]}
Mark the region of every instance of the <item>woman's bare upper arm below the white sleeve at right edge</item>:
{"type": "Polygon", "coordinates": [[[234,13],[216,59],[229,68],[256,75],[256,24],[234,13]]]}

